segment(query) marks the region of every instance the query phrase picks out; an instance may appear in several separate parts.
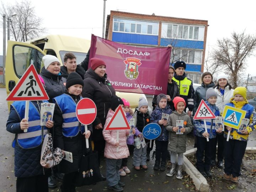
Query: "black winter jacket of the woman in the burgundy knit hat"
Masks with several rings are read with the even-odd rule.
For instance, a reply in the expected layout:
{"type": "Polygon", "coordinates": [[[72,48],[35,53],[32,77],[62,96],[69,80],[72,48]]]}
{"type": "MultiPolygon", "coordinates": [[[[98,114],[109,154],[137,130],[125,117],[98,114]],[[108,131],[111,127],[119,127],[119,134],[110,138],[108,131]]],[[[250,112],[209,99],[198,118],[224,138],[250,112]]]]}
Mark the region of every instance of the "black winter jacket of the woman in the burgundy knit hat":
{"type": "Polygon", "coordinates": [[[103,78],[98,76],[91,68],[86,72],[84,79],[84,87],[82,89],[82,97],[90,98],[94,101],[97,108],[97,116],[92,123],[93,140],[103,140],[102,130],[94,127],[101,123],[104,127],[108,110],[111,107],[111,97],[116,95],[116,91],[107,80],[107,74],[103,78]]]}

